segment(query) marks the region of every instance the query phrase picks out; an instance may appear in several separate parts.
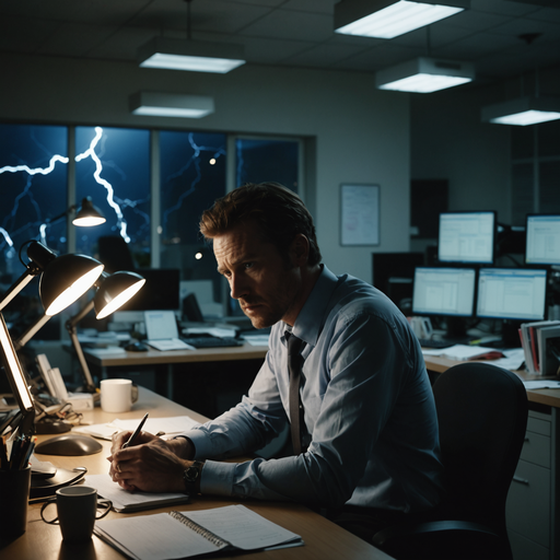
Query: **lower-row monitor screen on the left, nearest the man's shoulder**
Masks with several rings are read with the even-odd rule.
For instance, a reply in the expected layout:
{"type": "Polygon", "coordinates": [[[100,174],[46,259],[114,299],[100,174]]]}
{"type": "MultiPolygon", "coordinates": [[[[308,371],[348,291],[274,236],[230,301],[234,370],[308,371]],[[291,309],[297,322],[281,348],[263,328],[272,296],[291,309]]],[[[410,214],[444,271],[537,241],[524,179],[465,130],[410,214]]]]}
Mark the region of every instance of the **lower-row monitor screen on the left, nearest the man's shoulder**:
{"type": "Polygon", "coordinates": [[[412,312],[470,317],[475,303],[474,268],[419,267],[415,271],[412,312]]]}

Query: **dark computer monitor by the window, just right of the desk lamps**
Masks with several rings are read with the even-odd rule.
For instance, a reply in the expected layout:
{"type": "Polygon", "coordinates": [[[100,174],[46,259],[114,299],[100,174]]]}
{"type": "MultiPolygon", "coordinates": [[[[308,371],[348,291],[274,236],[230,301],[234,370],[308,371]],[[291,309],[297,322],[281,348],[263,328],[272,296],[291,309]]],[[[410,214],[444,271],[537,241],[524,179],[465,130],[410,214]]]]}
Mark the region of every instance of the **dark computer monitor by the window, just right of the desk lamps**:
{"type": "Polygon", "coordinates": [[[113,314],[116,323],[139,323],[144,311],[180,310],[180,270],[178,268],[141,268],[144,287],[113,314]]]}

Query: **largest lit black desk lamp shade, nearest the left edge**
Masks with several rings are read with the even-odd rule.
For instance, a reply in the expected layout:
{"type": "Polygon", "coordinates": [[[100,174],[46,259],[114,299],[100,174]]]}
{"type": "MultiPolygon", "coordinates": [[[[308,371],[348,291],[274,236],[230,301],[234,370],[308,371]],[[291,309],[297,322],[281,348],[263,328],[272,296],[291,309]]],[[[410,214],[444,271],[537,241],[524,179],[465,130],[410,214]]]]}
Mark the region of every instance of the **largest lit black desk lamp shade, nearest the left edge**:
{"type": "Polygon", "coordinates": [[[56,315],[83,295],[103,272],[104,265],[85,255],[61,255],[40,277],[39,295],[46,315],[56,315]]]}

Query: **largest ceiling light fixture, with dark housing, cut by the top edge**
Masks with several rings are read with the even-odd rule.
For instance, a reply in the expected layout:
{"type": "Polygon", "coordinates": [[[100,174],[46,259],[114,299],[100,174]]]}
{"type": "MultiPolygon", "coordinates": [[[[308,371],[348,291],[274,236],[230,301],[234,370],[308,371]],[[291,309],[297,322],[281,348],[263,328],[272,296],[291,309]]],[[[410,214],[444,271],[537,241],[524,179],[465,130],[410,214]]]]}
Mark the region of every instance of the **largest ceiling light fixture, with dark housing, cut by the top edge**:
{"type": "Polygon", "coordinates": [[[469,8],[469,0],[342,0],[335,5],[335,32],[392,39],[469,8]]]}

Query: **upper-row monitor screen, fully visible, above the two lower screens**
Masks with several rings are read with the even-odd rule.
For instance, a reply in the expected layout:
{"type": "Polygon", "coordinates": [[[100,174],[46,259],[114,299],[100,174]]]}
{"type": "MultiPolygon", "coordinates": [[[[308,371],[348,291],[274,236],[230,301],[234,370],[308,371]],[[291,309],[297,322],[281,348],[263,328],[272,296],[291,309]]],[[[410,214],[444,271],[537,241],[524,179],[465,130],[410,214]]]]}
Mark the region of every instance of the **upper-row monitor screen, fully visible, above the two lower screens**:
{"type": "Polygon", "coordinates": [[[442,212],[438,240],[441,262],[491,265],[495,212],[442,212]]]}

